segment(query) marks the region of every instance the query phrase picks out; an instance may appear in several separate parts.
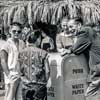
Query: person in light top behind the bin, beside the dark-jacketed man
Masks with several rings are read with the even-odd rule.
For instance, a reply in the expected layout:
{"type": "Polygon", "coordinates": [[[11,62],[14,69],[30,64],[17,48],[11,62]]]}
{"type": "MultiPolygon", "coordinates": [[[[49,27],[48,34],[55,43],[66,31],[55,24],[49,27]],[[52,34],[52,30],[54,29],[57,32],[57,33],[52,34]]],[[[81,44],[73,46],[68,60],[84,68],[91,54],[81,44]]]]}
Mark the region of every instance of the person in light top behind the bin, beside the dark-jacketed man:
{"type": "Polygon", "coordinates": [[[57,34],[56,37],[57,51],[62,54],[64,54],[66,51],[68,52],[68,49],[72,47],[74,43],[74,35],[70,34],[67,24],[68,19],[63,18],[61,21],[62,32],[57,34]]]}

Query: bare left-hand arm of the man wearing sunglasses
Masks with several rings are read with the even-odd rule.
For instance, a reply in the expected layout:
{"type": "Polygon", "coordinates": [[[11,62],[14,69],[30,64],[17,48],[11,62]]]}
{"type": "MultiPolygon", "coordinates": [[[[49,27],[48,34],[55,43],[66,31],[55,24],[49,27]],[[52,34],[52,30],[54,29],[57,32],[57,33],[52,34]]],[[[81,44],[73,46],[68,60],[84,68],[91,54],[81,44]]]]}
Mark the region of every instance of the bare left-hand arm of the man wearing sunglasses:
{"type": "Polygon", "coordinates": [[[5,50],[2,50],[0,52],[0,59],[1,59],[1,65],[5,72],[5,74],[9,75],[9,69],[8,69],[8,53],[5,50]]]}

